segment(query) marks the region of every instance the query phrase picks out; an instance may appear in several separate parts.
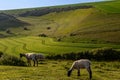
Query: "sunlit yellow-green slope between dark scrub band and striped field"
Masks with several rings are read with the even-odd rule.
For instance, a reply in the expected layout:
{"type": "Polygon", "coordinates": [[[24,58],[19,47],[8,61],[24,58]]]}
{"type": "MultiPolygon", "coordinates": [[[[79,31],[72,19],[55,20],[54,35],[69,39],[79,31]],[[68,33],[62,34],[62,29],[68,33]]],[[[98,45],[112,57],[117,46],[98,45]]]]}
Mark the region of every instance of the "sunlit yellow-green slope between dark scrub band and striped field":
{"type": "Polygon", "coordinates": [[[119,14],[108,14],[98,8],[91,8],[50,13],[38,17],[22,17],[19,19],[30,23],[31,26],[27,26],[29,31],[20,29],[18,34],[39,35],[44,33],[49,37],[63,38],[63,41],[67,39],[70,41],[70,34],[76,34],[75,40],[71,39],[71,42],[79,42],[80,39],[93,39],[119,43],[120,37],[117,35],[120,34],[119,16],[119,14]],[[51,27],[51,29],[47,30],[47,27],[51,27]]]}

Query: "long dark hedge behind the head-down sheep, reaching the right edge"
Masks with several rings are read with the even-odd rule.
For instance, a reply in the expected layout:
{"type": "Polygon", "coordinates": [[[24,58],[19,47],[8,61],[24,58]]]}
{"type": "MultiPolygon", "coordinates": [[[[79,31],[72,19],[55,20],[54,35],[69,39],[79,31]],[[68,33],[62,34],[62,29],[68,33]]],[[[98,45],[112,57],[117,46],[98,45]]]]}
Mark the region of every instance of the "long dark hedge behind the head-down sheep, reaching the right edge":
{"type": "Polygon", "coordinates": [[[100,48],[92,51],[83,51],[78,53],[66,53],[66,54],[54,54],[48,55],[48,59],[65,59],[65,60],[77,60],[87,58],[97,61],[113,61],[120,60],[120,51],[112,48],[100,48]]]}

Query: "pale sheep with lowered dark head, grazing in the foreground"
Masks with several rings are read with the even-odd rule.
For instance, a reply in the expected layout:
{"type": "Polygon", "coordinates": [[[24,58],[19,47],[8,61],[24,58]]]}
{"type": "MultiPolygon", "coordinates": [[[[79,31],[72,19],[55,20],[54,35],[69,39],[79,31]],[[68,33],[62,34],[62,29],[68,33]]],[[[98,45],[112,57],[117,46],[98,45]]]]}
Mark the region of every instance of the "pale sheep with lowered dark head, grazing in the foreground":
{"type": "Polygon", "coordinates": [[[80,60],[74,61],[71,68],[68,70],[68,77],[70,77],[73,69],[77,69],[78,70],[78,76],[80,76],[80,69],[86,68],[87,71],[89,72],[89,77],[90,77],[90,80],[91,80],[92,71],[91,71],[90,65],[91,65],[91,62],[88,59],[80,59],[80,60]]]}

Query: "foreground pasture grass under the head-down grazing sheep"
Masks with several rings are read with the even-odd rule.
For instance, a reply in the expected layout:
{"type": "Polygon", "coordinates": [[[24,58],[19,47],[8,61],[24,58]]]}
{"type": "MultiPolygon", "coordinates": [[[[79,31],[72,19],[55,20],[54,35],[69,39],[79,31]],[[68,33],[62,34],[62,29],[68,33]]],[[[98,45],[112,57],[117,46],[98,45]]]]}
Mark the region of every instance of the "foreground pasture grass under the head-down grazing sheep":
{"type": "MultiPolygon", "coordinates": [[[[0,66],[1,80],[88,80],[88,73],[81,69],[81,76],[77,77],[74,70],[71,77],[67,77],[67,70],[73,61],[45,61],[38,67],[0,66]],[[12,74],[11,74],[12,73],[12,74]]],[[[92,80],[119,80],[119,62],[92,61],[92,80]]]]}

